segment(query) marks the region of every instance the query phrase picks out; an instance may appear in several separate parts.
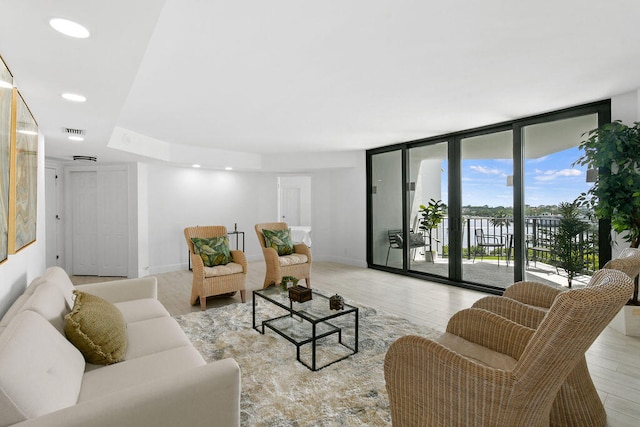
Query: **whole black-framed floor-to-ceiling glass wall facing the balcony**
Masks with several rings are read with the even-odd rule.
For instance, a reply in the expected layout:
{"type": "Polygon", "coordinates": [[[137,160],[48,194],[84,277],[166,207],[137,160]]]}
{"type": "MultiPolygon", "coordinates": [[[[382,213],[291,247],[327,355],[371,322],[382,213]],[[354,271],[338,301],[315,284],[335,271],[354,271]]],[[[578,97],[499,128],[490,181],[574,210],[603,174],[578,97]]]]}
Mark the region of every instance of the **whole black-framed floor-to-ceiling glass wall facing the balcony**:
{"type": "MultiPolygon", "coordinates": [[[[591,185],[573,163],[582,135],[608,121],[602,101],[369,150],[368,265],[496,293],[518,280],[566,285],[558,207],[591,185]],[[430,202],[442,221],[421,227],[430,202]]],[[[589,242],[578,283],[611,256],[606,227],[590,224],[576,237],[589,242]]]]}

